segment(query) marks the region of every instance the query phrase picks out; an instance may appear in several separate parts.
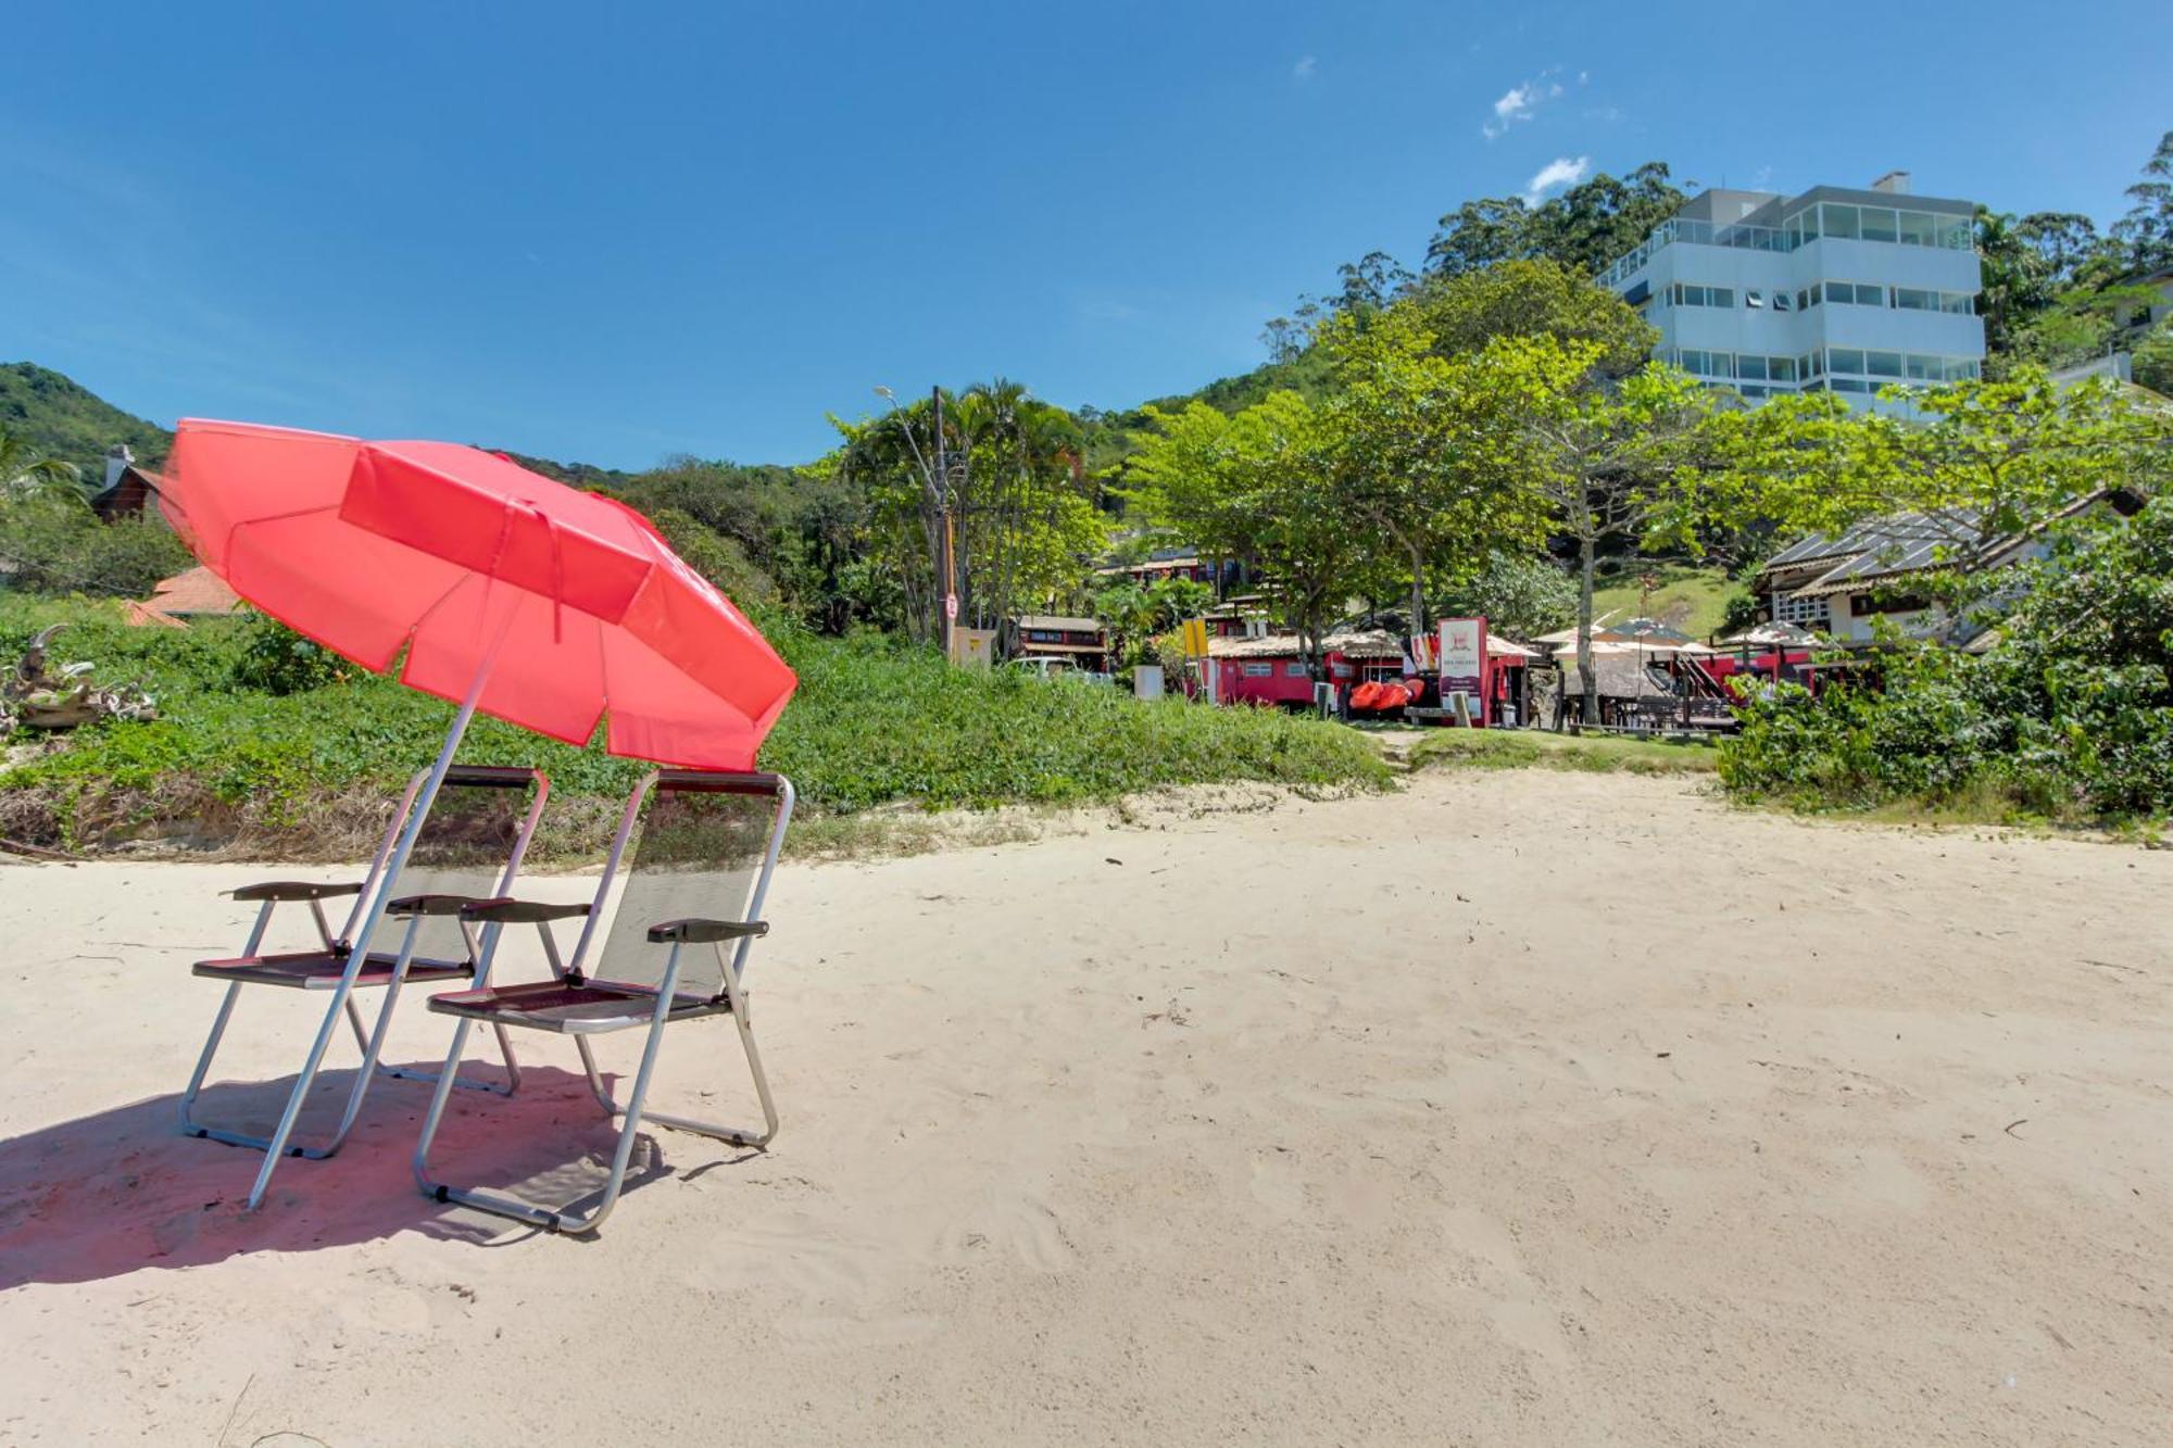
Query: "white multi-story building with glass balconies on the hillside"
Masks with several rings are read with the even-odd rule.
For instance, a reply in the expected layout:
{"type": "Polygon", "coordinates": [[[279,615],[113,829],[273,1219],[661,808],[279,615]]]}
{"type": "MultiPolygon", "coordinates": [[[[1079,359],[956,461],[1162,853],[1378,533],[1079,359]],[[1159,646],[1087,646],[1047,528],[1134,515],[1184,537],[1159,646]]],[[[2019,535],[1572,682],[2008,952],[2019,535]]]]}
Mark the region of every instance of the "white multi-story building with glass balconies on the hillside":
{"type": "Polygon", "coordinates": [[[1867,191],[1701,191],[1599,283],[1660,328],[1654,357],[1717,387],[1888,411],[1880,387],[1984,367],[1973,215],[1910,196],[1904,172],[1867,191]]]}

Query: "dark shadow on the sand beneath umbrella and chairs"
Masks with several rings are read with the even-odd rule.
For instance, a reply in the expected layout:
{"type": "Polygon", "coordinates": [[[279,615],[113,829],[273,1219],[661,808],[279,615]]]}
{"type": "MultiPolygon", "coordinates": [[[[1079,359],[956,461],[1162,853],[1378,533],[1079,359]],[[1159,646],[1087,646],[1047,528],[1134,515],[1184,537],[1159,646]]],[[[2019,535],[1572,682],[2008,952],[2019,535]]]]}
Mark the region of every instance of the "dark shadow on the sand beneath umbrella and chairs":
{"type": "MultiPolygon", "coordinates": [[[[413,1065],[435,1070],[437,1061],[413,1065]]],[[[432,1168],[539,1202],[576,1202],[600,1191],[617,1124],[598,1111],[580,1074],[539,1065],[524,1065],[522,1074],[513,1098],[454,1094],[430,1152],[432,1168]]],[[[352,1085],[352,1070],[322,1072],[298,1135],[322,1137],[352,1085]]],[[[291,1089],[293,1076],[209,1085],[198,1098],[198,1120],[267,1133],[291,1089]]],[[[282,1161],[259,1211],[243,1211],[243,1202],[263,1157],[183,1137],[178,1096],[0,1141],[0,1291],[143,1268],[198,1268],[243,1252],[309,1252],[402,1231],[476,1246],[535,1235],[415,1189],[409,1161],[428,1091],[415,1081],[372,1083],[363,1120],[341,1152],[328,1161],[282,1161]]],[[[719,1163],[700,1170],[713,1165],[719,1163]]],[[[656,1139],[641,1135],[626,1189],[669,1174],[656,1139]]]]}

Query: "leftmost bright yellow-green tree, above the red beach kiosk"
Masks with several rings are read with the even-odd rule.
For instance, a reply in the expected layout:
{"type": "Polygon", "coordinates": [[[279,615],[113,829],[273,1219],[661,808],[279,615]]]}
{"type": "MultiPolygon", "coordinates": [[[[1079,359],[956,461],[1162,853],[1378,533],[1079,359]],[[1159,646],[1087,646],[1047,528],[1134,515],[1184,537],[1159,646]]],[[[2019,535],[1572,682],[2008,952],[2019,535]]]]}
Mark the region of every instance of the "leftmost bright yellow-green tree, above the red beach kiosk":
{"type": "Polygon", "coordinates": [[[1365,567],[1362,520],[1341,507],[1321,413],[1295,391],[1226,417],[1204,402],[1150,409],[1132,498],[1160,528],[1260,567],[1308,661],[1365,567]]]}

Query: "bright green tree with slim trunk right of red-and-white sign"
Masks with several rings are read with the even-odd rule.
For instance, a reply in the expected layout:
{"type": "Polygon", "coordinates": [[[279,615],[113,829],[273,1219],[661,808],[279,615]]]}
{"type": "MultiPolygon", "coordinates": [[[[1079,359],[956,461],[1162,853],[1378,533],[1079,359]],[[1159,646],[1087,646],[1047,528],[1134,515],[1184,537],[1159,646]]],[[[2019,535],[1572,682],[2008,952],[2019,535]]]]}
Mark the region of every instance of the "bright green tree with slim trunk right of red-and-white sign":
{"type": "Polygon", "coordinates": [[[1695,546],[1697,524],[1723,489],[1708,467],[1714,394],[1673,367],[1649,363],[1625,378],[1604,370],[1595,341],[1504,337],[1480,359],[1502,376],[1512,404],[1504,439],[1525,487],[1578,550],[1578,676],[1584,722],[1599,722],[1593,672],[1593,567],[1612,539],[1669,537],[1695,546]]]}

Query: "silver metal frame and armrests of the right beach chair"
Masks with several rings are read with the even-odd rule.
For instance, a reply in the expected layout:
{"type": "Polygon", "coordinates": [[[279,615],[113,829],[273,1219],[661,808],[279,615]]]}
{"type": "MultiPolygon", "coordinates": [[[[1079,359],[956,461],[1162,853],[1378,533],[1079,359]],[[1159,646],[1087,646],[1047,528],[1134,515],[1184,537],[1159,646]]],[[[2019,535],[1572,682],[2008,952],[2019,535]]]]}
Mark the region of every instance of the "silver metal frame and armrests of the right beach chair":
{"type": "MultiPolygon", "coordinates": [[[[437,1094],[430,1098],[430,1111],[422,1122],[422,1139],[415,1144],[415,1185],[424,1196],[439,1202],[459,1202],[463,1207],[476,1207],[502,1218],[513,1218],[515,1222],[528,1222],[554,1233],[593,1233],[604,1224],[611,1211],[619,1202],[619,1191],[626,1187],[626,1165],[632,1159],[635,1137],[643,1122],[656,1122],[658,1126],[671,1126],[674,1131],[684,1131],[691,1135],[711,1137],[717,1141],[730,1141],[734,1146],[767,1148],[778,1135],[778,1109],[769,1094],[769,1076],[763,1072],[763,1054],[754,1044],[754,1024],[750,1020],[745,970],[748,959],[754,950],[754,941],[769,933],[767,922],[763,922],[763,902],[769,896],[769,881],[778,867],[778,852],[784,846],[784,831],[793,817],[793,783],[782,774],[711,774],[693,770],[658,770],[645,776],[635,794],[626,802],[626,813],[619,817],[619,831],[611,841],[611,857],[604,861],[604,878],[595,887],[593,907],[580,907],[587,915],[582,922],[580,941],[574,946],[574,957],[561,968],[558,952],[550,944],[550,924],[545,920],[535,920],[535,907],[519,900],[478,900],[469,904],[461,915],[467,922],[485,926],[482,939],[482,968],[476,974],[476,983],[467,991],[454,991],[445,996],[430,998],[430,1011],[441,1015],[459,1018],[459,1026],[452,1035],[452,1050],[445,1052],[445,1072],[439,1074],[437,1094]],[[745,900],[748,920],[671,920],[654,922],[648,928],[650,944],[669,946],[665,957],[663,978],[654,987],[645,985],[619,985],[619,983],[591,983],[582,976],[582,963],[589,950],[598,946],[598,924],[604,915],[604,902],[611,894],[611,885],[619,874],[619,865],[626,857],[626,846],[632,839],[635,826],[641,817],[641,807],[650,794],[658,787],[665,789],[713,789],[732,794],[771,794],[778,800],[776,817],[769,826],[769,844],[763,852],[761,874],[754,878],[754,889],[745,900]],[[504,987],[493,989],[489,983],[491,965],[498,952],[498,939],[506,924],[535,924],[543,931],[545,952],[552,961],[556,981],[545,981],[535,987],[504,987]],[[713,998],[702,996],[680,996],[678,972],[680,952],[687,948],[711,946],[717,952],[717,963],[724,974],[724,991],[713,998]],[[732,946],[726,954],[726,946],[732,946]],[[478,1020],[489,1020],[493,1002],[515,998],[522,991],[552,991],[554,987],[591,989],[602,998],[619,996],[630,1007],[624,1015],[608,1018],[587,1018],[587,1020],[554,1020],[554,1022],[513,1022],[539,1031],[556,1031],[561,1035],[574,1037],[574,1050],[580,1054],[580,1068],[589,1081],[589,1094],[604,1109],[606,1118],[624,1118],[619,1126],[619,1137],[611,1154],[611,1174],[604,1181],[602,1198],[587,1213],[576,1213],[571,1207],[550,1209],[524,1202],[515,1196],[500,1191],[482,1191],[476,1187],[452,1187],[437,1181],[430,1174],[430,1144],[437,1139],[437,1128],[445,1115],[445,1102],[452,1098],[450,1072],[452,1063],[461,1059],[467,1046],[467,1031],[478,1020]],[[730,1015],[734,1026],[739,1026],[739,1044],[748,1059],[748,1074],[754,1078],[754,1094],[763,1107],[763,1128],[754,1131],[750,1126],[728,1126],[719,1122],[702,1122],[684,1115],[667,1115],[663,1111],[648,1111],[650,1076],[656,1070],[658,1048],[663,1046],[665,1026],[674,1020],[698,1020],[704,1015],[730,1015]],[[635,1072],[635,1085],[626,1102],[619,1104],[611,1089],[604,1085],[604,1076],[595,1065],[595,1054],[589,1050],[589,1037],[608,1031],[630,1031],[648,1026],[648,1041],[641,1048],[641,1065],[635,1072]]],[[[567,907],[571,909],[571,907],[567,907]]],[[[624,909],[624,907],[621,907],[624,909]]],[[[493,1026],[498,1022],[491,1022],[493,1026]]],[[[502,1028],[502,1026],[500,1026],[502,1028]]],[[[578,1200],[578,1198],[576,1198],[578,1200]]]]}

